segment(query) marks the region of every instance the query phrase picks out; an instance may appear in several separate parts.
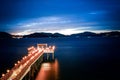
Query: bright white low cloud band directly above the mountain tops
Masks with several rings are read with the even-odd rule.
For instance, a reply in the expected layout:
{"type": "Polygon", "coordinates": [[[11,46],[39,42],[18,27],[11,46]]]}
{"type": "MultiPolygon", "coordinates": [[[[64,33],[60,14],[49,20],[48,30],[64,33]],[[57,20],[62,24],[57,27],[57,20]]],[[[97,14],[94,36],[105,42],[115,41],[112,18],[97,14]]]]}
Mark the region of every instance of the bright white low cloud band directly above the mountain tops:
{"type": "Polygon", "coordinates": [[[65,35],[70,35],[74,33],[80,33],[84,32],[85,30],[90,30],[91,27],[81,27],[81,28],[65,28],[65,29],[28,29],[28,30],[23,30],[23,31],[17,31],[12,34],[17,34],[17,35],[25,35],[25,34],[31,34],[34,32],[46,32],[46,33],[61,33],[65,35]]]}

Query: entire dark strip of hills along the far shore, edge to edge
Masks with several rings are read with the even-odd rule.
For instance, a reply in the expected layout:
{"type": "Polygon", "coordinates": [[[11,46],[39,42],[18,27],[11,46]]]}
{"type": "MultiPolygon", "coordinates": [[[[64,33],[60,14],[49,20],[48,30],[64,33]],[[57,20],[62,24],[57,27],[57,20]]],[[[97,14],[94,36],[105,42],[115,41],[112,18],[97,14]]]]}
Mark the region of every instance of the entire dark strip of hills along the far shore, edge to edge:
{"type": "Polygon", "coordinates": [[[32,33],[29,35],[11,35],[6,32],[0,32],[0,39],[8,39],[8,38],[45,38],[45,37],[120,37],[119,31],[111,31],[111,32],[104,32],[104,33],[93,33],[93,32],[83,32],[71,35],[64,35],[60,33],[32,33]]]}

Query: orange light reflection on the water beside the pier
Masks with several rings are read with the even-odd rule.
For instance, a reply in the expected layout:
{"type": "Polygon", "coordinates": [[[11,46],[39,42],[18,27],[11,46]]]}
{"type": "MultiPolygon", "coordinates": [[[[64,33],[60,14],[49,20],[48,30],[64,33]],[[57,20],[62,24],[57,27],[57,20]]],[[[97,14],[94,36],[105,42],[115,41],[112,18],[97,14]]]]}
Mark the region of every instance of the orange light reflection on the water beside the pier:
{"type": "Polygon", "coordinates": [[[58,80],[59,63],[55,59],[54,62],[42,63],[36,80],[58,80]]]}

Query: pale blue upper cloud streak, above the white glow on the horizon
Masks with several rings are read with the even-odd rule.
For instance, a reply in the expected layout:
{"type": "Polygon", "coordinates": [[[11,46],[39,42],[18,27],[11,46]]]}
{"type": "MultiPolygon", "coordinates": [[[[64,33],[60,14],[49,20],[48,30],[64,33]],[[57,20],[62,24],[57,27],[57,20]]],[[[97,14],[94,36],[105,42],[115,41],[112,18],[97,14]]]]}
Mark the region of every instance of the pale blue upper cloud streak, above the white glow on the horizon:
{"type": "Polygon", "coordinates": [[[29,20],[21,24],[21,27],[34,27],[34,26],[46,26],[55,24],[66,24],[71,21],[64,17],[41,17],[33,20],[29,20]]]}

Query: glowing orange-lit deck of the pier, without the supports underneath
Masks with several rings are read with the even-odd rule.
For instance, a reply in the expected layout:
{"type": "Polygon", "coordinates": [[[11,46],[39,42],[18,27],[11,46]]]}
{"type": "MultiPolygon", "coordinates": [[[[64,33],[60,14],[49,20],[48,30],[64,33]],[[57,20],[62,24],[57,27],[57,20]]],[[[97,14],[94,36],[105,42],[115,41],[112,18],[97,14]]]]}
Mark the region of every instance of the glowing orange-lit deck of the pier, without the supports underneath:
{"type": "MultiPolygon", "coordinates": [[[[46,45],[45,45],[46,46],[46,45]]],[[[15,66],[11,70],[7,70],[6,74],[2,74],[0,80],[21,80],[29,72],[30,67],[44,54],[54,53],[55,46],[34,48],[33,46],[28,48],[28,55],[24,56],[22,60],[15,63],[15,66]]]]}

